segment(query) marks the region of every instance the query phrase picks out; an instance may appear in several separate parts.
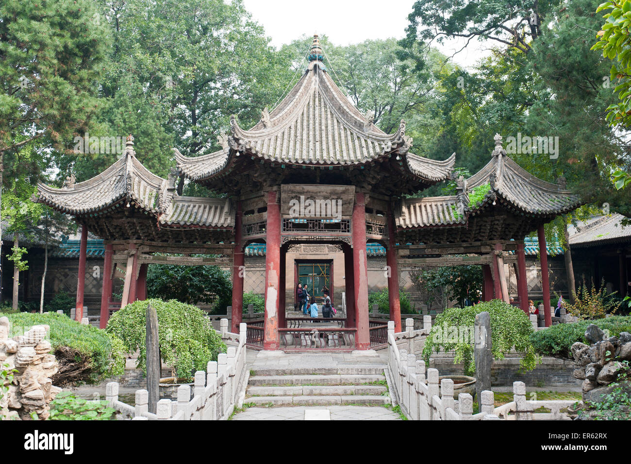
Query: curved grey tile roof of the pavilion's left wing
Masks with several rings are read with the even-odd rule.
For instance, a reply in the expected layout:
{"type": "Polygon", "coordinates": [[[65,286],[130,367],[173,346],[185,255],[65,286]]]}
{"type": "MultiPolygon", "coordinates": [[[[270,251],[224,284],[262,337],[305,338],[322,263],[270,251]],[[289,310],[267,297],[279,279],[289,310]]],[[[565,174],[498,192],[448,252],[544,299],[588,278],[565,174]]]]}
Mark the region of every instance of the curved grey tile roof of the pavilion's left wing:
{"type": "Polygon", "coordinates": [[[130,136],[123,155],[85,182],[75,184],[73,176],[62,188],[38,184],[33,201],[88,223],[91,231],[107,240],[196,241],[182,230],[233,229],[235,208],[230,199],[179,196],[175,173],[168,179],[151,173],[136,158],[133,145],[130,136]],[[178,230],[175,239],[174,230],[178,230]]]}

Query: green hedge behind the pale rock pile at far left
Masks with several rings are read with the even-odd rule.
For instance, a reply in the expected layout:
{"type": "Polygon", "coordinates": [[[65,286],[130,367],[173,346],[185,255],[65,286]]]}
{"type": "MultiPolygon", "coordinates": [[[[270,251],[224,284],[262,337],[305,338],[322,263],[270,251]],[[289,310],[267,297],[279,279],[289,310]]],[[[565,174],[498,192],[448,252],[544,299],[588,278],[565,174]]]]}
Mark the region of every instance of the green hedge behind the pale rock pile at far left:
{"type": "Polygon", "coordinates": [[[13,335],[34,325],[50,326],[50,344],[59,362],[59,372],[52,378],[55,385],[97,383],[124,372],[122,342],[104,330],[82,325],[56,313],[18,312],[1,316],[9,318],[13,335]]]}

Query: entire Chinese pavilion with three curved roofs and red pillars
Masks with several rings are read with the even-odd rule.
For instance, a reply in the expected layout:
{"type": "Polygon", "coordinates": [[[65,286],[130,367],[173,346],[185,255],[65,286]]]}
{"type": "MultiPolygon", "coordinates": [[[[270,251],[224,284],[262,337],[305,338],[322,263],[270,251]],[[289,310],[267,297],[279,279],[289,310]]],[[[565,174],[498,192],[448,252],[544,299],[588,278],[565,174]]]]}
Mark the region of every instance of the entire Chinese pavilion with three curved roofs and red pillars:
{"type": "MultiPolygon", "coordinates": [[[[368,243],[386,248],[390,318],[397,331],[398,263],[403,260],[418,265],[479,264],[485,276],[484,299],[508,300],[503,259],[517,254],[519,302],[528,311],[524,237],[538,230],[545,250],[543,225],[580,205],[562,182],[536,179],[507,157],[499,135],[488,164],[469,179],[456,179],[456,195],[407,198],[454,178],[455,155],[435,161],[411,153],[404,121],[394,134],[377,128],[372,115],[354,107],[327,73],[317,35],[307,69],[281,103],[262,110],[261,120],[249,130],[231,117],[230,133],[220,134],[218,140],[221,150],[199,157],[175,150],[176,167],[167,179],[138,161],[130,136],[121,158],[97,177],[79,183],[68,179],[61,189],[38,185],[35,201],[71,215],[81,225],[78,320],[88,230],[105,243],[102,327],[112,311],[146,298],[150,263],[232,263],[231,325],[238,331],[244,250],[264,242],[264,321],[248,326],[248,340],[253,345],[258,340],[266,350],[295,348],[293,335],[299,348],[299,336],[286,320],[286,300],[289,297],[293,306],[295,289],[286,276],[285,255],[298,244],[327,244],[344,255],[346,318],[343,328],[331,329],[326,345],[366,350],[375,345],[375,324],[369,321],[368,243]],[[180,196],[175,187],[180,176],[224,198],[180,196]],[[474,189],[484,196],[472,204],[469,195],[474,189]],[[112,300],[116,266],[126,267],[121,304],[112,300]]],[[[541,266],[550,324],[545,252],[541,266]]]]}

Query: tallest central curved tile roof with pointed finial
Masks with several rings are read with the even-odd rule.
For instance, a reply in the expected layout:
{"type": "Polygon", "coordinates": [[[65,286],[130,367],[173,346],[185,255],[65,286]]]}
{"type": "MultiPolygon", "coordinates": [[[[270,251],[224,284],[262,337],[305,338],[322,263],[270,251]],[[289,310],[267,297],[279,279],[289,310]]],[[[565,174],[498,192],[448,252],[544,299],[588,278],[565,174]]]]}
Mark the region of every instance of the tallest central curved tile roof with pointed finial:
{"type": "MultiPolygon", "coordinates": [[[[243,164],[262,163],[280,169],[336,169],[328,182],[343,184],[352,182],[343,182],[348,176],[339,175],[339,170],[365,170],[376,163],[382,177],[391,171],[398,177],[399,189],[404,190],[403,184],[409,182],[413,191],[449,177],[455,155],[435,161],[408,153],[412,138],[406,135],[404,121],[395,133],[386,134],[375,126],[372,114],[362,114],[351,104],[322,63],[317,35],[309,60],[298,83],[271,112],[262,110],[261,120],[253,128],[246,130],[236,117],[230,118],[230,134],[218,137],[222,150],[201,157],[186,157],[176,150],[182,174],[216,188],[225,186],[220,179],[242,172],[243,164]]],[[[367,176],[367,172],[362,174],[367,176]]],[[[377,183],[381,176],[375,177],[377,183]]]]}

